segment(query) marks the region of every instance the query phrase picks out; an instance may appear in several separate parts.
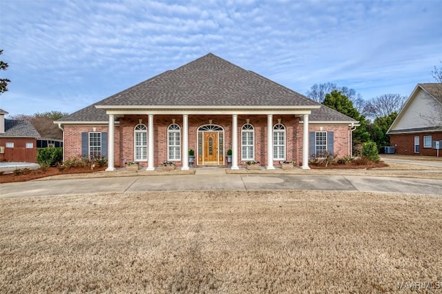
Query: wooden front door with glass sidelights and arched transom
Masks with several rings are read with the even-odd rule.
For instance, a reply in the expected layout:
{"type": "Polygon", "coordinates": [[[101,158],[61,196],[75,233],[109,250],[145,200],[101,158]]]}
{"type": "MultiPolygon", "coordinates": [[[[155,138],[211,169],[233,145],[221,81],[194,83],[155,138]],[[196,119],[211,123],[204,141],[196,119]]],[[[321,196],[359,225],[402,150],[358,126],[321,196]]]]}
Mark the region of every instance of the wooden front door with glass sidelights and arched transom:
{"type": "Polygon", "coordinates": [[[198,164],[224,165],[224,130],[220,126],[202,126],[198,129],[198,164]]]}

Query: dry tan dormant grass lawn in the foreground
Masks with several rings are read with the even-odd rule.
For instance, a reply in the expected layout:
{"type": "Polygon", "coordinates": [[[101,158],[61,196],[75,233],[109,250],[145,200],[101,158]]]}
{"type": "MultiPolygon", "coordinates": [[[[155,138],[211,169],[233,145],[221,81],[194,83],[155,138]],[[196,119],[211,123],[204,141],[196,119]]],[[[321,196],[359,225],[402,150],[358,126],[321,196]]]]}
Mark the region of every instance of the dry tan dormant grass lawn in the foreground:
{"type": "Polygon", "coordinates": [[[2,199],[2,293],[379,293],[442,281],[442,198],[323,191],[2,199]]]}

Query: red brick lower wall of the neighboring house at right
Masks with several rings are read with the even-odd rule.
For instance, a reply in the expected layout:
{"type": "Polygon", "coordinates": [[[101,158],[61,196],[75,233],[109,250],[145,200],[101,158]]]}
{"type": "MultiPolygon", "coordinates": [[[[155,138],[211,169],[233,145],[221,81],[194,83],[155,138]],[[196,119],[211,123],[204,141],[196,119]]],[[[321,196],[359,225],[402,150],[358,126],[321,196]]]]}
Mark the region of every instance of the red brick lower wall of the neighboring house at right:
{"type": "MultiPolygon", "coordinates": [[[[436,156],[436,149],[423,148],[424,136],[432,136],[432,141],[442,140],[442,133],[390,135],[390,146],[396,147],[396,154],[399,155],[436,156]],[[419,136],[419,153],[414,153],[414,136],[419,136]]],[[[442,156],[442,150],[439,150],[439,156],[442,156]]]]}

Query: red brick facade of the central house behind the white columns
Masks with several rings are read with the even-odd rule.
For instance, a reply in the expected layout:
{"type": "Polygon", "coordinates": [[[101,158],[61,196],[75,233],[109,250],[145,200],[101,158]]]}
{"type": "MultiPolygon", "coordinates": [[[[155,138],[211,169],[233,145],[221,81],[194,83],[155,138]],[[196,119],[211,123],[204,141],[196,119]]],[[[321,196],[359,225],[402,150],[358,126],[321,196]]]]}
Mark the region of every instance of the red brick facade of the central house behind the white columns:
{"type": "MultiPolygon", "coordinates": [[[[160,166],[162,161],[167,160],[167,130],[173,124],[178,124],[182,134],[182,115],[155,115],[153,124],[154,137],[154,166],[160,166]]],[[[232,117],[231,115],[189,115],[189,150],[195,150],[195,165],[198,163],[198,128],[209,124],[220,126],[224,130],[224,157],[227,150],[232,148],[232,117]]],[[[244,124],[254,128],[255,160],[260,161],[262,166],[267,163],[267,115],[238,115],[238,166],[244,166],[241,160],[241,130],[244,124]]],[[[273,115],[273,126],[280,123],[285,126],[286,133],[286,160],[296,160],[297,165],[302,164],[302,124],[298,117],[293,115],[273,115]]],[[[124,166],[124,162],[134,160],[134,128],[137,124],[147,126],[147,115],[125,115],[119,118],[119,124],[115,125],[115,166],[124,166]]],[[[350,155],[349,132],[347,125],[316,125],[310,124],[309,131],[324,130],[334,132],[334,153],[339,157],[350,155]]],[[[84,132],[108,132],[108,126],[73,126],[64,127],[64,159],[81,156],[81,133],[84,132]]],[[[182,138],[181,138],[182,142],[182,138]]],[[[182,157],[182,155],[181,155],[182,157]]],[[[180,161],[177,166],[182,166],[180,161]]],[[[278,161],[273,161],[275,166],[278,161]]],[[[224,162],[227,166],[227,161],[224,162]]],[[[146,167],[147,161],[140,162],[140,166],[146,167]]]]}

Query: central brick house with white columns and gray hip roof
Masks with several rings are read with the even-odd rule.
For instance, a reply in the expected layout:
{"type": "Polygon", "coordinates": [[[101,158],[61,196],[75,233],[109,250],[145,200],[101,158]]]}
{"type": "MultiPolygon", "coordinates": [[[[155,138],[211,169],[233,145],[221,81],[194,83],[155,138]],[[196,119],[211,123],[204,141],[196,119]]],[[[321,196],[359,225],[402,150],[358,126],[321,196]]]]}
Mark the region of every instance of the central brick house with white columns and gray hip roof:
{"type": "Polygon", "coordinates": [[[102,155],[107,170],[137,161],[189,169],[260,161],[273,169],[329,151],[351,155],[358,121],[211,53],[55,121],[64,128],[64,158],[102,155]]]}

